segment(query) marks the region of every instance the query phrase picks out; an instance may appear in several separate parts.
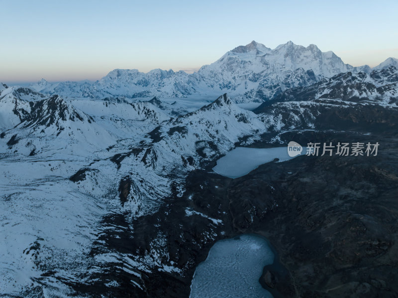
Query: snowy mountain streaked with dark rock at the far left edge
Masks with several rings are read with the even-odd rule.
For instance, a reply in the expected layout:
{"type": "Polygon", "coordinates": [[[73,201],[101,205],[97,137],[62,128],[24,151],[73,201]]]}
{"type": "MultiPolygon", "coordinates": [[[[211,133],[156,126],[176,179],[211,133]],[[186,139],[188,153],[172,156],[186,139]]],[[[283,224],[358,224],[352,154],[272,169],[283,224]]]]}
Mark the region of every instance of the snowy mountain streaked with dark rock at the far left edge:
{"type": "Polygon", "coordinates": [[[62,149],[64,153],[86,155],[114,142],[91,116],[57,95],[45,97],[29,89],[12,87],[2,92],[0,102],[2,111],[8,115],[2,121],[2,151],[33,156],[62,149]],[[82,143],[92,148],[82,148],[82,143]]]}

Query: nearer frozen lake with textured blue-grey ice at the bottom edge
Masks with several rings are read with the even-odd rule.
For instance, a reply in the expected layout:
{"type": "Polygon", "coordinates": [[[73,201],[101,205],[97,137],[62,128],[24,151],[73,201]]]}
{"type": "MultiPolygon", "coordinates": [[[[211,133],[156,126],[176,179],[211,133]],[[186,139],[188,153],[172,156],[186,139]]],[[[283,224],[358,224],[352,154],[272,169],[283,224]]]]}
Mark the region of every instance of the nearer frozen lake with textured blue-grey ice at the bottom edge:
{"type": "Polygon", "coordinates": [[[272,298],[259,278],[274,262],[267,241],[255,235],[240,235],[217,241],[195,271],[190,298],[272,298]]]}

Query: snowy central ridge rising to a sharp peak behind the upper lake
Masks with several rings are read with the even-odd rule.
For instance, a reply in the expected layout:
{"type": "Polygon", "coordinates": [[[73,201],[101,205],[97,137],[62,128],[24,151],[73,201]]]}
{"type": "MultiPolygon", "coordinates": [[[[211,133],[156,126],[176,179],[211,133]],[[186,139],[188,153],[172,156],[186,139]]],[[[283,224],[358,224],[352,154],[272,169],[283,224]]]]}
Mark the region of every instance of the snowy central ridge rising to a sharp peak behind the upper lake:
{"type": "Polygon", "coordinates": [[[116,145],[110,151],[118,150],[119,153],[111,160],[119,171],[129,172],[126,177],[131,181],[131,193],[124,206],[135,210],[136,215],[145,214],[147,211],[144,210],[150,209],[148,201],[160,199],[170,192],[163,188],[156,193],[160,187],[158,181],[169,177],[166,181],[172,183],[172,177],[172,181],[180,184],[188,171],[200,167],[203,159],[226,153],[240,137],[258,134],[269,125],[223,95],[195,112],[163,121],[152,131],[147,131],[149,138],[144,137],[133,146],[130,144],[128,150],[124,145],[116,145]],[[130,171],[131,167],[134,172],[130,171]]]}

